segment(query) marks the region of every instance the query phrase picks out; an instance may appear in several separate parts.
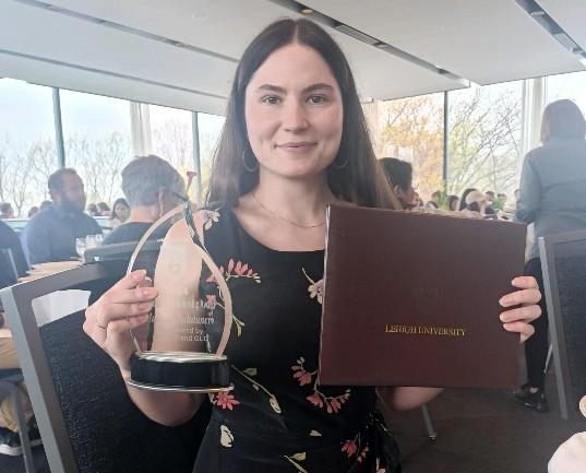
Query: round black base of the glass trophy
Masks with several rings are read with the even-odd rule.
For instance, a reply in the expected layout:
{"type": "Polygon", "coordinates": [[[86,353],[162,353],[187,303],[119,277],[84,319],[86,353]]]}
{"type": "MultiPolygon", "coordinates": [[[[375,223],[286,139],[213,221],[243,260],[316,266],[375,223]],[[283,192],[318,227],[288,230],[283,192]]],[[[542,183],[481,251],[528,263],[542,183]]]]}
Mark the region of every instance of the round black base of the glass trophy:
{"type": "Polygon", "coordinates": [[[230,367],[223,355],[190,352],[140,352],[130,357],[130,380],[152,391],[212,393],[229,391],[230,367]]]}

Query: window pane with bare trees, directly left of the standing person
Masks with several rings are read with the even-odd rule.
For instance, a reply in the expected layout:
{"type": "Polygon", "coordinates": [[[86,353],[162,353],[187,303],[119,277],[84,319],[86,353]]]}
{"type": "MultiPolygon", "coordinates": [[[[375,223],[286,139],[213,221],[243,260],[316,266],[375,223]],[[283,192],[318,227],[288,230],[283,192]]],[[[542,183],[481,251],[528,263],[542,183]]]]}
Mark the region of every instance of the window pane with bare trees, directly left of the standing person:
{"type": "Polygon", "coordinates": [[[518,187],[523,82],[450,92],[447,193],[518,187]]]}

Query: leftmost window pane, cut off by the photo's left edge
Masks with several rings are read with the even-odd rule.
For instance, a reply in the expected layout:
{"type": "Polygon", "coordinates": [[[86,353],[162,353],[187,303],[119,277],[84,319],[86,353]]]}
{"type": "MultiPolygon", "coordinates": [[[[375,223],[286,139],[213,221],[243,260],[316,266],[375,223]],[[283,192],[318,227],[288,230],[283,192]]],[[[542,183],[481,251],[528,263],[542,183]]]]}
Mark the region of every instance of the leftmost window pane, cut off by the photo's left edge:
{"type": "Polygon", "coordinates": [[[48,199],[47,177],[57,169],[52,90],[0,80],[0,201],[16,216],[48,199]]]}

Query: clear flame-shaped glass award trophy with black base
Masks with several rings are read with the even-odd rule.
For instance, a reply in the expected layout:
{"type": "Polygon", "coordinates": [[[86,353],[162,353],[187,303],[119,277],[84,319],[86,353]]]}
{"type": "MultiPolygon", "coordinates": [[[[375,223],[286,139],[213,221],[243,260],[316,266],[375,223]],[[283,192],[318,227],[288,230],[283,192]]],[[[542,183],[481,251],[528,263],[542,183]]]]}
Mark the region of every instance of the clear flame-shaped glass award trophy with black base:
{"type": "Polygon", "coordinates": [[[140,269],[153,280],[158,295],[148,322],[130,331],[136,351],[130,360],[129,385],[156,391],[230,390],[224,351],[231,327],[231,296],[195,228],[190,202],[148,228],[127,273],[140,269]]]}

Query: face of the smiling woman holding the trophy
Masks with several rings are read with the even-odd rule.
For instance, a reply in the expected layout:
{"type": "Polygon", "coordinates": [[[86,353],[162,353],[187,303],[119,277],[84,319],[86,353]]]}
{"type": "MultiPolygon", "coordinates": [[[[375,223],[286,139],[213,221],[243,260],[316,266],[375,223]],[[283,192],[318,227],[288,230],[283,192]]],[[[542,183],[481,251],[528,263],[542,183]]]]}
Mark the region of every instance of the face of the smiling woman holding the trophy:
{"type": "Polygon", "coordinates": [[[274,51],[246,90],[248,138],[262,173],[304,178],[324,172],[342,140],[339,86],[312,48],[274,51]]]}

